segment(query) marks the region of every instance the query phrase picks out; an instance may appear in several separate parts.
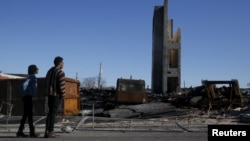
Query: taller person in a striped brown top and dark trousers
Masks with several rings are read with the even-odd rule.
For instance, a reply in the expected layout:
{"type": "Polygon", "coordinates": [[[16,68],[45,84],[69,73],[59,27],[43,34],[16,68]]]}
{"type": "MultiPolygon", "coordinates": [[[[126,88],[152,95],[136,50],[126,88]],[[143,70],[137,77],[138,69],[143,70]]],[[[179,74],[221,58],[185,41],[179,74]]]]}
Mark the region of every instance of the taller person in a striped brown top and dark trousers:
{"type": "Polygon", "coordinates": [[[54,133],[55,117],[62,98],[65,95],[65,73],[62,70],[63,66],[63,58],[57,56],[54,59],[54,66],[51,67],[46,74],[45,95],[48,99],[48,113],[44,134],[45,138],[56,137],[54,133]]]}

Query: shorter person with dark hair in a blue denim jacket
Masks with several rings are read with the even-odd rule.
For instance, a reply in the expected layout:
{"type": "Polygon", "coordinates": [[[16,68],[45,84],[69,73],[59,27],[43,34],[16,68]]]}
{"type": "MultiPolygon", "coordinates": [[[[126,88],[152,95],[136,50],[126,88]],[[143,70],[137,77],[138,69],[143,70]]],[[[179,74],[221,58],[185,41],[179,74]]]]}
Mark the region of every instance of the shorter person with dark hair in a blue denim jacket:
{"type": "Polygon", "coordinates": [[[29,122],[29,137],[38,137],[38,134],[35,133],[35,128],[33,125],[33,100],[32,97],[36,94],[37,90],[37,78],[38,68],[36,65],[32,64],[28,67],[28,76],[25,79],[25,82],[21,85],[21,96],[23,101],[23,116],[20,121],[16,137],[28,137],[28,135],[23,133],[25,122],[28,118],[29,122]]]}

